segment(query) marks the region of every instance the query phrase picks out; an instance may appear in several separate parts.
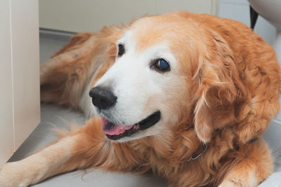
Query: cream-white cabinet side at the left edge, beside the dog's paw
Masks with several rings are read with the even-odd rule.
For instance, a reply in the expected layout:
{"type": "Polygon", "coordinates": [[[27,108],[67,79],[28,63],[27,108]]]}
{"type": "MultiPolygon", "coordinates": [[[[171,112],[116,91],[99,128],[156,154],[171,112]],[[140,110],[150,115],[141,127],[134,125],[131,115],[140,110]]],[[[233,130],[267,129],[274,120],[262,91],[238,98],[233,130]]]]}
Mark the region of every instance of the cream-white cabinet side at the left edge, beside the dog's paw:
{"type": "Polygon", "coordinates": [[[0,0],[0,167],[40,121],[37,0],[0,0]]]}

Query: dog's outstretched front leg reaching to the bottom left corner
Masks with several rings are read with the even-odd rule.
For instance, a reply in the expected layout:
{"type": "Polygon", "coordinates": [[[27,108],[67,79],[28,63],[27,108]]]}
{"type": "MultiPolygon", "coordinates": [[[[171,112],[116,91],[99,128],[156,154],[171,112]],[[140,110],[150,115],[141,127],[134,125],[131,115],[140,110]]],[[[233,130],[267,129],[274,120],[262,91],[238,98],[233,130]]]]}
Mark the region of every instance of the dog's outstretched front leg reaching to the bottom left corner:
{"type": "Polygon", "coordinates": [[[100,118],[93,118],[41,151],[6,163],[0,170],[0,186],[29,186],[55,174],[86,167],[132,168],[130,160],[122,160],[116,148],[119,145],[112,144],[101,132],[100,118]]]}

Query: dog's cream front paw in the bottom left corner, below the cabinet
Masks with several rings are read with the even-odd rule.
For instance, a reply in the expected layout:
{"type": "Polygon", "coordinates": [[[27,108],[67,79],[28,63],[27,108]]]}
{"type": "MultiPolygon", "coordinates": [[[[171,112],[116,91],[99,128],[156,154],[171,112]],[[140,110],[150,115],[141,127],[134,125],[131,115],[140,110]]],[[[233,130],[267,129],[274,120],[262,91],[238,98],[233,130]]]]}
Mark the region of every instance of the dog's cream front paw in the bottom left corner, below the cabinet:
{"type": "Polygon", "coordinates": [[[8,162],[0,170],[1,187],[29,186],[28,171],[24,171],[20,162],[8,162]]]}

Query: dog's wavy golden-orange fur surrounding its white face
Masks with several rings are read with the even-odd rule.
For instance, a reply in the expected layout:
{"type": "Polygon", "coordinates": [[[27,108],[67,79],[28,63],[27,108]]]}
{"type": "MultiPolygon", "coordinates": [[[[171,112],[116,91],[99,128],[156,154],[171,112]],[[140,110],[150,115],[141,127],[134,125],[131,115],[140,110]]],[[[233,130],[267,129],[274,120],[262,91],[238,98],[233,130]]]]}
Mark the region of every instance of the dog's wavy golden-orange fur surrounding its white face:
{"type": "Polygon", "coordinates": [[[140,31],[140,51],[176,33],[171,50],[186,83],[184,94],[175,93],[182,102],[177,123],[162,136],[115,143],[100,130],[100,118],[91,118],[61,136],[75,137],[70,158],[32,183],[91,167],[152,172],[168,179],[169,186],[257,186],[266,179],[273,158],[261,135],[280,108],[280,67],[273,48],[240,22],[178,12],[74,35],[41,66],[42,101],[79,109],[86,86],[92,87],[115,62],[115,42],[129,27],[140,31]],[[153,19],[162,29],[153,28],[153,19]],[[146,27],[139,29],[141,25],[146,27]],[[209,148],[188,162],[202,141],[209,148]]]}

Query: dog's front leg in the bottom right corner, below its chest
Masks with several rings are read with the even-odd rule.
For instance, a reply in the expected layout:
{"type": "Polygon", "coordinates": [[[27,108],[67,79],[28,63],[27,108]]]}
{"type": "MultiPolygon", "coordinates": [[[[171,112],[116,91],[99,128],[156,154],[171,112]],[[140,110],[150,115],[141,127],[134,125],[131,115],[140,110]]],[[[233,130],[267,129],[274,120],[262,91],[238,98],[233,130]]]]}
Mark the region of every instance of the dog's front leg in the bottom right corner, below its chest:
{"type": "Polygon", "coordinates": [[[221,172],[227,172],[218,187],[256,187],[273,171],[273,159],[263,139],[240,146],[221,172]]]}

